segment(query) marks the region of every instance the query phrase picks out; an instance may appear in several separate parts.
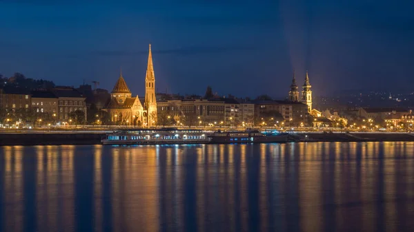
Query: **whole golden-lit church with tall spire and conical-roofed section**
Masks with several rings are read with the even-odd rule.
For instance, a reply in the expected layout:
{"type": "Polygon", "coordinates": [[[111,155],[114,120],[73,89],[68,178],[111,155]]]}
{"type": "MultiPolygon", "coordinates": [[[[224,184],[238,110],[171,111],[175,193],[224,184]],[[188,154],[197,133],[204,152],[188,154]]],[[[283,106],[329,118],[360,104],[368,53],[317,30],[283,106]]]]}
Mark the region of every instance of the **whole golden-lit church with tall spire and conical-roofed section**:
{"type": "Polygon", "coordinates": [[[157,125],[157,100],[155,96],[155,74],[152,65],[151,45],[145,78],[145,97],[132,96],[122,72],[110,93],[110,101],[103,108],[114,125],[155,127],[157,125]]]}

